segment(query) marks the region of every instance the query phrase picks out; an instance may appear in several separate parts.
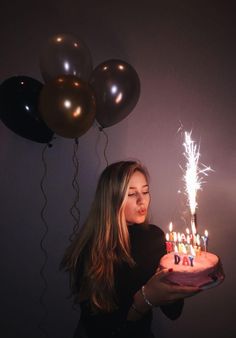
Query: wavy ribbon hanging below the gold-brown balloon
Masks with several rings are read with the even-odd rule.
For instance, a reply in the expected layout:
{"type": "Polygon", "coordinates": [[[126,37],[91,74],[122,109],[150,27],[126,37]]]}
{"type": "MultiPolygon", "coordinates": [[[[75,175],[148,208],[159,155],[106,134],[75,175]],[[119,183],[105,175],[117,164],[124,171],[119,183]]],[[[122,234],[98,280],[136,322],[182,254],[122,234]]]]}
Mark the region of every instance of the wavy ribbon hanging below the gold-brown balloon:
{"type": "Polygon", "coordinates": [[[78,207],[79,197],[80,197],[80,189],[79,189],[79,159],[78,159],[78,148],[79,148],[79,141],[78,138],[75,138],[74,146],[73,146],[73,156],[72,161],[74,164],[74,177],[72,180],[72,188],[75,191],[75,198],[70,208],[70,214],[73,217],[75,224],[73,226],[73,232],[69,237],[69,240],[72,242],[73,238],[76,236],[77,231],[79,229],[79,222],[80,222],[80,209],[78,207]]]}

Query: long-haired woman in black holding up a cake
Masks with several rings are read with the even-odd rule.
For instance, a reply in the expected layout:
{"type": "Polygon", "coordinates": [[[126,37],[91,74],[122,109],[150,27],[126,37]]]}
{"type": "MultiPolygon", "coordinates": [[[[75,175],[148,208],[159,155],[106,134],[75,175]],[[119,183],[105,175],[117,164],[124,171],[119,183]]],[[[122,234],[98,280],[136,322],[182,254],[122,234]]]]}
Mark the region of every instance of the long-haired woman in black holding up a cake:
{"type": "Polygon", "coordinates": [[[158,270],[165,237],[148,224],[149,204],[143,165],[120,161],[103,171],[88,218],[62,261],[81,309],[75,338],[154,337],[152,308],[176,319],[183,299],[199,291],[164,283],[171,273],[158,270]]]}

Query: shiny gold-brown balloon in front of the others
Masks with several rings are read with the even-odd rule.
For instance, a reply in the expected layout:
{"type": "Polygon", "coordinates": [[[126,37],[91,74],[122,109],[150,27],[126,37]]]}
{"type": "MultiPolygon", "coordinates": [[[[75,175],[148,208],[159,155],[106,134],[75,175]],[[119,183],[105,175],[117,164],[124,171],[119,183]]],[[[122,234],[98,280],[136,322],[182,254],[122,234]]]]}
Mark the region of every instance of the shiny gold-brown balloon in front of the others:
{"type": "Polygon", "coordinates": [[[56,134],[77,138],[95,120],[95,97],[90,85],[73,75],[59,76],[40,93],[42,119],[56,134]]]}

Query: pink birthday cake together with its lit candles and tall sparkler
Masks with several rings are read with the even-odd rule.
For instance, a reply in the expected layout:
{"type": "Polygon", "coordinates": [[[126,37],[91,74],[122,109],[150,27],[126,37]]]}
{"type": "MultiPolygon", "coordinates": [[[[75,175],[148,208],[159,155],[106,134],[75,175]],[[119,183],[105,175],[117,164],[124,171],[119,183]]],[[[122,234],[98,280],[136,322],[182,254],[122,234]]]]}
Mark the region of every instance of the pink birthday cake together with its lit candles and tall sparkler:
{"type": "MultiPolygon", "coordinates": [[[[170,232],[166,234],[166,252],[160,260],[160,268],[172,269],[166,280],[170,283],[183,286],[196,286],[201,289],[218,285],[224,280],[224,272],[218,256],[208,251],[208,231],[199,234],[196,208],[197,191],[204,182],[200,174],[207,176],[212,169],[208,166],[198,166],[199,146],[191,139],[191,132],[185,132],[184,157],[186,159],[183,181],[185,194],[188,197],[188,206],[191,215],[191,232],[173,231],[170,223],[170,232]]],[[[185,224],[188,224],[186,222],[185,224]]]]}

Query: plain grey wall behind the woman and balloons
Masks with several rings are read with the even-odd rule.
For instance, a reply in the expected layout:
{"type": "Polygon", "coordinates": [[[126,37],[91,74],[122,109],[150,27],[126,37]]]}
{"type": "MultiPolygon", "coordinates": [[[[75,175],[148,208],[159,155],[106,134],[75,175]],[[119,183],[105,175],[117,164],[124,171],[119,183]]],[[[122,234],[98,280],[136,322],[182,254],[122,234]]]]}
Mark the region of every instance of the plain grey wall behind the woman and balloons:
{"type": "MultiPolygon", "coordinates": [[[[138,158],[151,175],[152,222],[167,230],[182,212],[179,164],[180,121],[201,141],[210,173],[199,193],[199,224],[210,233],[225,282],[186,301],[175,322],[155,311],[160,338],[235,337],[235,12],[233,1],[18,1],[0,11],[0,80],[27,75],[42,81],[39,53],[56,33],[81,37],[94,66],[110,58],[130,63],[141,80],[141,96],[129,116],[106,129],[108,161],[138,158]],[[231,332],[231,333],[230,333],[231,332]]],[[[81,222],[97,176],[105,167],[105,137],[94,124],[79,139],[81,222]]],[[[0,123],[1,337],[37,338],[44,310],[40,213],[44,145],[14,134],[0,123]]],[[[73,140],[58,136],[45,154],[47,195],[44,239],[48,261],[45,329],[50,338],[72,337],[78,313],[68,299],[67,276],[58,269],[74,220],[73,140]]]]}

